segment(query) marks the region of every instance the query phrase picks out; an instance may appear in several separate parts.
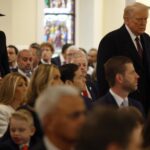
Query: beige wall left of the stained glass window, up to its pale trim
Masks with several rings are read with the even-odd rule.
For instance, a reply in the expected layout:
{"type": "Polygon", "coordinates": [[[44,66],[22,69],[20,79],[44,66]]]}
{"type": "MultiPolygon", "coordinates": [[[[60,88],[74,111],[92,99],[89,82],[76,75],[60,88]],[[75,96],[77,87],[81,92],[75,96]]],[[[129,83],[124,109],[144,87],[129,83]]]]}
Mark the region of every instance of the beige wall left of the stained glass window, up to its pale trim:
{"type": "Polygon", "coordinates": [[[0,29],[7,36],[7,44],[27,47],[37,37],[36,0],[0,0],[0,29]]]}

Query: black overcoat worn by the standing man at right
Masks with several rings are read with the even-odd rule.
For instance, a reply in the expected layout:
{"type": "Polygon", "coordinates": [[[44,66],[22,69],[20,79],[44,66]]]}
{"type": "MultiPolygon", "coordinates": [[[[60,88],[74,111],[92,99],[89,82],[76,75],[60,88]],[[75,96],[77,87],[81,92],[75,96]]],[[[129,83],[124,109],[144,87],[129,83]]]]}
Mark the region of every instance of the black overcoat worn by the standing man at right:
{"type": "Polygon", "coordinates": [[[113,56],[129,57],[134,64],[135,70],[140,76],[138,90],[130,97],[142,102],[144,108],[150,107],[150,37],[143,33],[141,36],[143,47],[143,60],[141,60],[128,31],[123,25],[121,28],[108,33],[100,41],[97,55],[97,80],[99,84],[99,96],[107,93],[109,87],[105,80],[104,64],[113,56]]]}

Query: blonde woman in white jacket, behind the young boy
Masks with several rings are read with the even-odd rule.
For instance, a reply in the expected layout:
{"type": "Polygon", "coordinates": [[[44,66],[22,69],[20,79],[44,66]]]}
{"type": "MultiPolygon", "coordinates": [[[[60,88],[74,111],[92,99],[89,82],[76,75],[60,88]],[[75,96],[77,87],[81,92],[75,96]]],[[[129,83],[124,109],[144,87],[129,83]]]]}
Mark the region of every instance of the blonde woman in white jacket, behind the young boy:
{"type": "Polygon", "coordinates": [[[7,74],[0,86],[0,137],[6,132],[11,114],[23,103],[28,81],[23,75],[7,74]]]}

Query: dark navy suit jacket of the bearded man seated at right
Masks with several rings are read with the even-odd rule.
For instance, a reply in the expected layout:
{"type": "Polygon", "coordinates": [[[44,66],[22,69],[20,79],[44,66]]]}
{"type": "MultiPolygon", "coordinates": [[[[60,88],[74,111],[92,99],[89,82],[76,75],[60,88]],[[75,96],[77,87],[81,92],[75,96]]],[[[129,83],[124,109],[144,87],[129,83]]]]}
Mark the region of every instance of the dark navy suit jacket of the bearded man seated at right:
{"type": "MultiPolygon", "coordinates": [[[[134,106],[136,107],[144,116],[145,116],[145,112],[143,109],[143,106],[140,102],[138,102],[137,100],[134,100],[132,98],[128,97],[128,102],[129,102],[129,106],[134,106]]],[[[115,106],[116,108],[119,108],[119,106],[117,105],[117,102],[115,101],[114,97],[111,95],[110,92],[108,92],[106,95],[104,95],[103,97],[99,98],[95,104],[96,105],[107,105],[107,106],[115,106]]]]}

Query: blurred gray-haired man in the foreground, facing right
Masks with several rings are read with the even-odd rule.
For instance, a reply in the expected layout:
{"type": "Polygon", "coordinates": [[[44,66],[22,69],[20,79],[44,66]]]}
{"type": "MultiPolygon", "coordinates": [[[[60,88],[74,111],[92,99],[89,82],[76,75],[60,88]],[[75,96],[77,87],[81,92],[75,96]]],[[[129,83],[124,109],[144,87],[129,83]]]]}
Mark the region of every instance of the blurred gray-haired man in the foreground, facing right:
{"type": "Polygon", "coordinates": [[[70,86],[47,88],[37,99],[35,110],[44,138],[33,150],[71,150],[85,121],[85,105],[79,91],[70,86]]]}

